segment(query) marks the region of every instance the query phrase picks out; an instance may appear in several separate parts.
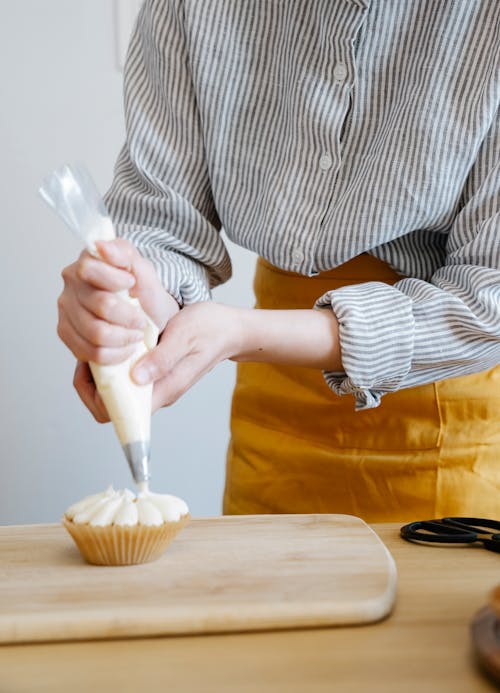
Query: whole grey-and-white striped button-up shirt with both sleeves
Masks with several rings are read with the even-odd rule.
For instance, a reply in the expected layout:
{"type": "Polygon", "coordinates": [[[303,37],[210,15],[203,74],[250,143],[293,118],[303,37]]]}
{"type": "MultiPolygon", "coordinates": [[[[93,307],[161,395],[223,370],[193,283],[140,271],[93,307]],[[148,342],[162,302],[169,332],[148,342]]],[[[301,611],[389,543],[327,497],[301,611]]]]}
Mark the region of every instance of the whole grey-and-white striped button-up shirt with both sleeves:
{"type": "Polygon", "coordinates": [[[500,362],[498,0],[147,0],[106,202],[180,302],[219,233],[312,276],[369,252],[402,277],[318,297],[359,409],[500,362]]]}

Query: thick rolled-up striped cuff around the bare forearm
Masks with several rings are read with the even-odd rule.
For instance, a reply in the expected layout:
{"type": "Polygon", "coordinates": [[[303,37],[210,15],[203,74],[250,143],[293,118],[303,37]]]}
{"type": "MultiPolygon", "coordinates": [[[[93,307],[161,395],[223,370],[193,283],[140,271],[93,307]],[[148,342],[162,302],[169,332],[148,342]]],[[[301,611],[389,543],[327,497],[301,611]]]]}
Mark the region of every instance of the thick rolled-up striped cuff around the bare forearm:
{"type": "Polygon", "coordinates": [[[331,307],[339,322],[344,373],[324,371],[338,395],[352,394],[356,410],[380,404],[398,390],[413,356],[412,301],[393,286],[366,282],[328,291],[315,308],[331,307]]]}

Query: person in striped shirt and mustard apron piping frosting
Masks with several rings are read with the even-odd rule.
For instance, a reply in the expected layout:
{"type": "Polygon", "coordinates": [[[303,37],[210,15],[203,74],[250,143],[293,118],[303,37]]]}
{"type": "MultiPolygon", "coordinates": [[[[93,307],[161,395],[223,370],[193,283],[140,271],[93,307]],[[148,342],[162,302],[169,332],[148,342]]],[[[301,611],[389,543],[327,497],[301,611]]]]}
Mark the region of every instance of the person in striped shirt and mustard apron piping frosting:
{"type": "Polygon", "coordinates": [[[125,72],[116,241],[58,331],[168,406],[238,363],[226,513],[500,514],[500,3],[148,0],[125,72]],[[220,229],[255,309],[211,302],[220,229]]]}

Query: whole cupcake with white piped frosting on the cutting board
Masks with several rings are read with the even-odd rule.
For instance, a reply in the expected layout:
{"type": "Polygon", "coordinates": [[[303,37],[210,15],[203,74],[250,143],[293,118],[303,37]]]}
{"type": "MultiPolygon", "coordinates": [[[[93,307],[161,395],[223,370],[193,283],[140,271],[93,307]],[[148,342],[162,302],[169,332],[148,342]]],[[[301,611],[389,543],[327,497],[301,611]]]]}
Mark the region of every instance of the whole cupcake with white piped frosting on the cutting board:
{"type": "Polygon", "coordinates": [[[68,508],[62,523],[89,563],[133,565],[159,558],[188,519],[181,498],[110,486],[68,508]]]}

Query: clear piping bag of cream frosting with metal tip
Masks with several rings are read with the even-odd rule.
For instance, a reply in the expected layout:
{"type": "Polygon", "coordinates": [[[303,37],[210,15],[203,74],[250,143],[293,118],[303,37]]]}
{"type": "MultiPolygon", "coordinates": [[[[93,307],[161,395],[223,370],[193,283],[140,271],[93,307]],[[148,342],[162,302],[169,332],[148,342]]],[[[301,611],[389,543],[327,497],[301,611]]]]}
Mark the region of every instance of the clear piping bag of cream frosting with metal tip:
{"type": "MultiPolygon", "coordinates": [[[[104,201],[83,166],[62,166],[43,180],[39,192],[94,257],[99,257],[95,241],[116,238],[104,201]]],[[[138,299],[129,296],[128,291],[119,291],[117,295],[142,310],[138,299]]],[[[130,369],[158,341],[157,326],[146,313],[144,315],[148,322],[144,341],[138,343],[132,356],[109,366],[89,364],[134,481],[141,490],[147,490],[150,478],[153,386],[137,385],[130,377],[130,369]]]]}

